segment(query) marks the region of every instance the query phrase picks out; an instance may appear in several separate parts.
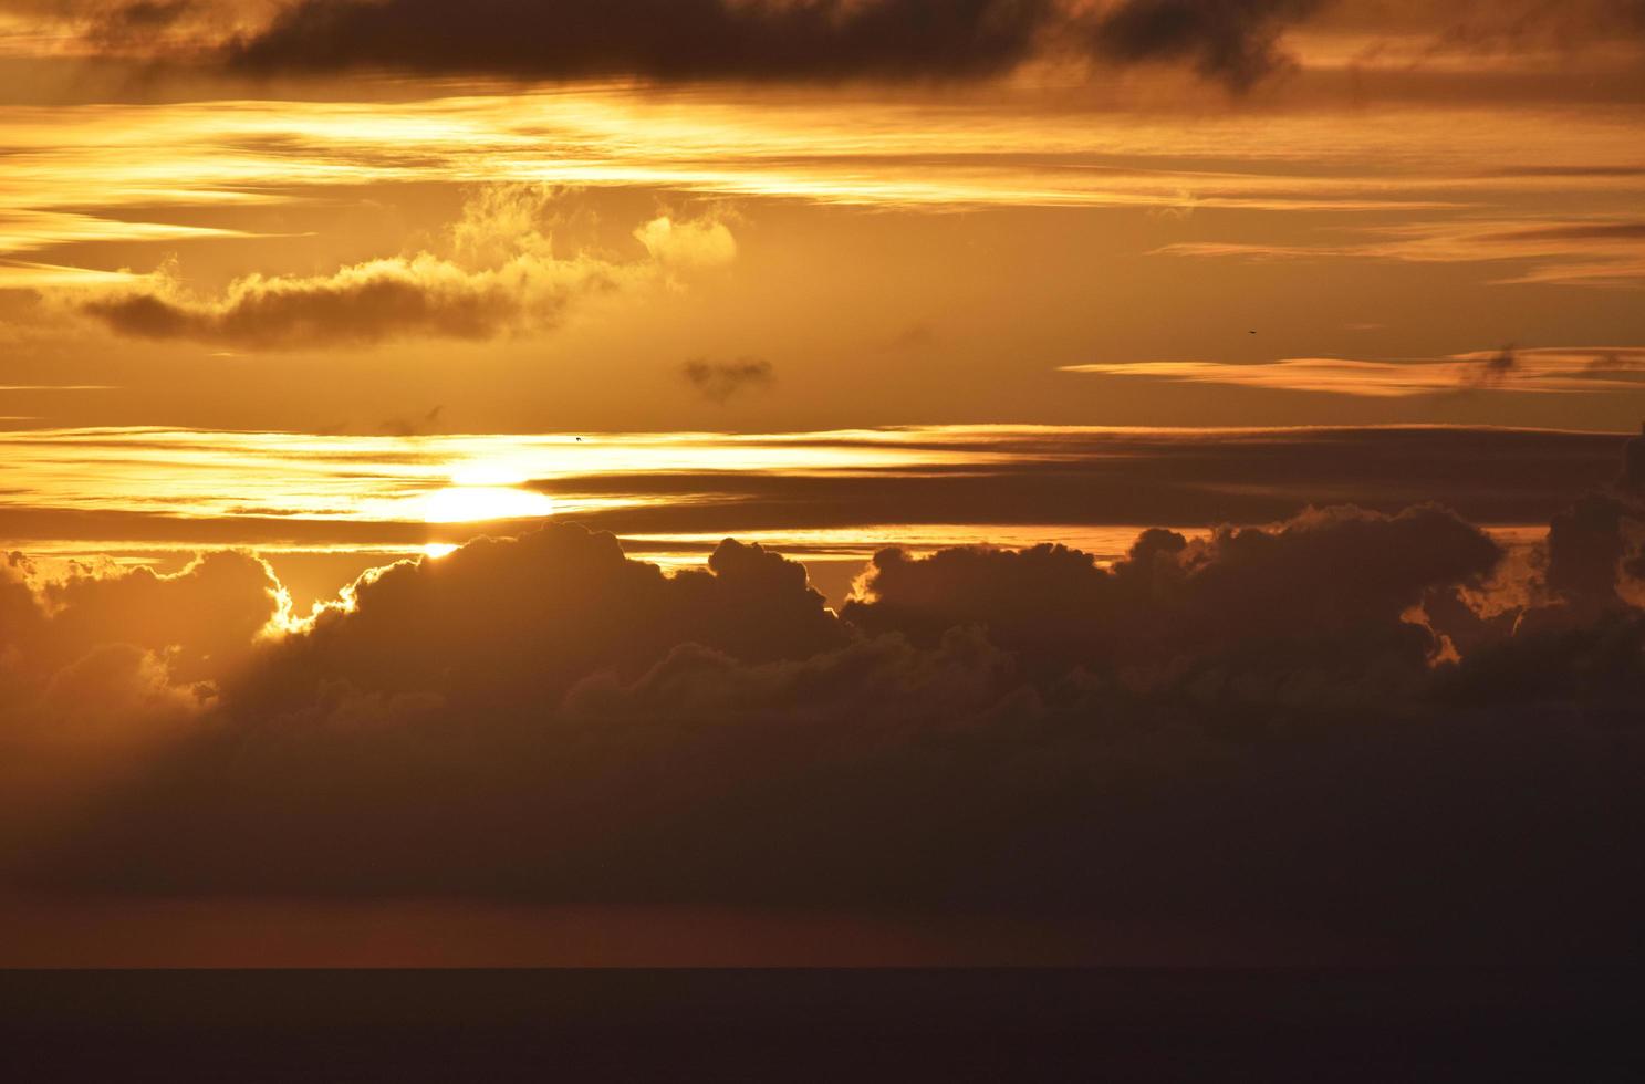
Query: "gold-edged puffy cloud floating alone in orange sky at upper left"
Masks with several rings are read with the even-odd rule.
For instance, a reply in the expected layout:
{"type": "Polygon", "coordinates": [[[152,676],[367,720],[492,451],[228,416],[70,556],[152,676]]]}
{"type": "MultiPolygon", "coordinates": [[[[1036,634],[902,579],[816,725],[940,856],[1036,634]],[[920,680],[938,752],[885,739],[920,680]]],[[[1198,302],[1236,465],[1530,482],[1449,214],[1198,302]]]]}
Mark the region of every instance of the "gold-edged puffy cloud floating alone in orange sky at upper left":
{"type": "Polygon", "coordinates": [[[637,239],[648,258],[558,257],[538,229],[551,194],[530,186],[482,191],[452,229],[451,255],[367,260],[331,275],[247,275],[220,296],[189,291],[174,266],[135,290],[84,303],[118,334],[263,349],[370,345],[408,337],[492,339],[553,327],[579,298],[735,257],[721,222],[655,219],[637,239]]]}

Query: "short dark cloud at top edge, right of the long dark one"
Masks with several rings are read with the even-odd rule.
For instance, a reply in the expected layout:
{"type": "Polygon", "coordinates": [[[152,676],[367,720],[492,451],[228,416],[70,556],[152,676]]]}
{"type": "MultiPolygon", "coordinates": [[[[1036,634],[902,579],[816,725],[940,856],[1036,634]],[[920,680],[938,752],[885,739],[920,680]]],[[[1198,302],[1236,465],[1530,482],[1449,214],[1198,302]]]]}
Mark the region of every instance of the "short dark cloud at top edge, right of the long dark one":
{"type": "Polygon", "coordinates": [[[1096,25],[1097,51],[1122,63],[1188,61],[1245,90],[1290,61],[1280,33],[1324,0],[1122,0],[1096,25]]]}

